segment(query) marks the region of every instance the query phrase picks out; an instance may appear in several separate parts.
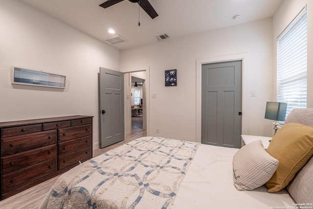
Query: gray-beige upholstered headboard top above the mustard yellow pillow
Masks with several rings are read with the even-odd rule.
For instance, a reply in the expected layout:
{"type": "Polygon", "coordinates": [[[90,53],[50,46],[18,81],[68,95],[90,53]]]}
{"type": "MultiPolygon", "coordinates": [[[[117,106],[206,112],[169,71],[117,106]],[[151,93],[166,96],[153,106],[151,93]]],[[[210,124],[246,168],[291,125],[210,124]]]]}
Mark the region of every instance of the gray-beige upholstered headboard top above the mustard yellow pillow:
{"type": "Polygon", "coordinates": [[[291,122],[313,126],[313,108],[293,109],[287,116],[284,124],[291,122]]]}

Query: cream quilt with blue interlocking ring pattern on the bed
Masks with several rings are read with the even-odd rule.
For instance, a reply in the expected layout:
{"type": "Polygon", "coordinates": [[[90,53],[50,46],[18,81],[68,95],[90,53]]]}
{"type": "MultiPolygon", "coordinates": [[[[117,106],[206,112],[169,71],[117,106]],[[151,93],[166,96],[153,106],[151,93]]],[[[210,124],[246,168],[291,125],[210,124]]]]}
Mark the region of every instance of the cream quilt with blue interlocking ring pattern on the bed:
{"type": "Polygon", "coordinates": [[[40,209],[167,209],[200,143],[143,137],[72,168],[40,209]]]}

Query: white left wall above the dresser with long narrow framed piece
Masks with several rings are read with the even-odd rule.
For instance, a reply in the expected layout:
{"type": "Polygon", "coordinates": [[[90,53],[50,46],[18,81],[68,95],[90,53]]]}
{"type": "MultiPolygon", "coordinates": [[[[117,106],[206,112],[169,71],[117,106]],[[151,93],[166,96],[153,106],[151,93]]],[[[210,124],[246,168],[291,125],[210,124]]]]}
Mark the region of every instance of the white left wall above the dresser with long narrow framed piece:
{"type": "Polygon", "coordinates": [[[93,118],[99,142],[99,67],[119,70],[119,50],[19,0],[0,1],[0,122],[54,116],[93,118]],[[11,84],[11,68],[66,75],[66,89],[11,84]]]}

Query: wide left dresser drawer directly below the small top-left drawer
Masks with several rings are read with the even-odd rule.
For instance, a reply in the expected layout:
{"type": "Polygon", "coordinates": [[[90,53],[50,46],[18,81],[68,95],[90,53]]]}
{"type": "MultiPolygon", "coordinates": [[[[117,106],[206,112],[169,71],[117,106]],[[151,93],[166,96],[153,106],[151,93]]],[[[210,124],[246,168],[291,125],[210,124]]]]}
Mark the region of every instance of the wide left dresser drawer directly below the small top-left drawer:
{"type": "Polygon", "coordinates": [[[57,130],[1,139],[1,157],[57,143],[57,130]]]}

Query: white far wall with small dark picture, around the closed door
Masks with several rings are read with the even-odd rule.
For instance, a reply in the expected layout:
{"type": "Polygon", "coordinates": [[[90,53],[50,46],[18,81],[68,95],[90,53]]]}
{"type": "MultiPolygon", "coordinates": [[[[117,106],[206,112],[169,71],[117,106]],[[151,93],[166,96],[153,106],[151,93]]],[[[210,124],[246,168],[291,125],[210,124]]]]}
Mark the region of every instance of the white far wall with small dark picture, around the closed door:
{"type": "Polygon", "coordinates": [[[265,19],[204,33],[169,39],[121,51],[121,71],[150,67],[151,135],[196,140],[196,60],[248,53],[248,133],[271,136],[271,121],[264,119],[272,97],[272,20],[265,19]],[[164,70],[178,70],[176,87],[165,87],[164,70]],[[156,93],[156,98],[151,94],[156,93]],[[156,128],[160,133],[156,134],[156,128]]]}

